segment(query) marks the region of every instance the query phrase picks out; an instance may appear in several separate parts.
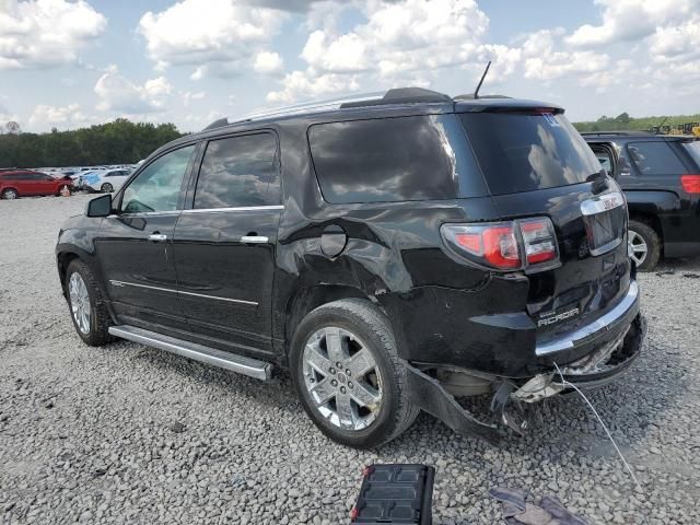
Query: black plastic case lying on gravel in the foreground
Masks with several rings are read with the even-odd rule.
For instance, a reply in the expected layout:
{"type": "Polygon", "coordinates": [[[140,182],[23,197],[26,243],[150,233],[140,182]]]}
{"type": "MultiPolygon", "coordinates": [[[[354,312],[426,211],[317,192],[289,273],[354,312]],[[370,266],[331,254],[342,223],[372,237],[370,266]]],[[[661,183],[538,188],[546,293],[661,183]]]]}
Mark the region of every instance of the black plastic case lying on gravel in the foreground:
{"type": "Polygon", "coordinates": [[[435,469],[425,465],[372,465],[364,469],[351,523],[432,524],[435,469]]]}

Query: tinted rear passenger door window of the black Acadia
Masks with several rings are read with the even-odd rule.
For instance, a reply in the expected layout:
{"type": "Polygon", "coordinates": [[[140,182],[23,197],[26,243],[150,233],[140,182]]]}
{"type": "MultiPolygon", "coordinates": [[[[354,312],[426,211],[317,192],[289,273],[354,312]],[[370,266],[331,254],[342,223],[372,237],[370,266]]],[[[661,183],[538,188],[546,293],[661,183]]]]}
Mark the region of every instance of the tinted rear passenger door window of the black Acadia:
{"type": "Polygon", "coordinates": [[[277,141],[271,133],[212,140],[199,170],[195,208],[280,203],[277,141]]]}

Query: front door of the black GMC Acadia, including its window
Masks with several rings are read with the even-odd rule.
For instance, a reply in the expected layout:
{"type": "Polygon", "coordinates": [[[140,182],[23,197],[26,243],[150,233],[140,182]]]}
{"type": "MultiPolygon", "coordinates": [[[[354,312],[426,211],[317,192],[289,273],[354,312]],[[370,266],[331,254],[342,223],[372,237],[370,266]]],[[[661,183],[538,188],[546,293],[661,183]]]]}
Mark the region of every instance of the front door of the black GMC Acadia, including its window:
{"type": "Polygon", "coordinates": [[[95,242],[109,299],[127,324],[180,326],[173,233],[196,144],[150,162],[115,200],[95,242]]]}

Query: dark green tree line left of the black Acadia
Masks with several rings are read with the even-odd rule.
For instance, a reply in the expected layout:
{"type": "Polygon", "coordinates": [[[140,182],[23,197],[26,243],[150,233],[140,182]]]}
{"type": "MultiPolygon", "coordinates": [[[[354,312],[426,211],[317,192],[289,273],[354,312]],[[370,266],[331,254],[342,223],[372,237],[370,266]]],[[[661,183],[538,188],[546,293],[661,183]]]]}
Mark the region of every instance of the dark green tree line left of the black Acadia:
{"type": "Polygon", "coordinates": [[[0,167],[132,164],[182,137],[174,124],[113,122],[71,131],[0,135],[0,167]]]}

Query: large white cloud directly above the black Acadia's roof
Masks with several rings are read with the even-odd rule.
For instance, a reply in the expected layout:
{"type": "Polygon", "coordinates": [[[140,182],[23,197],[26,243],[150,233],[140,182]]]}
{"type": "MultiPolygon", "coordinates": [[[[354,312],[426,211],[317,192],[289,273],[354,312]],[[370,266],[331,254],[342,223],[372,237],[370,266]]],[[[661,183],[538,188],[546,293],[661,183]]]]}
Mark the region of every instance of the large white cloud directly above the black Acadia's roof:
{"type": "Polygon", "coordinates": [[[474,0],[365,0],[366,22],[345,33],[332,20],[338,12],[332,7],[312,10],[324,27],[310,34],[302,50],[307,68],[287,74],[282,90],[269,93],[269,101],[357,90],[358,74],[373,74],[389,84],[406,78],[429,83],[435,71],[467,66],[480,55],[509,56],[504,47],[481,47],[488,18],[474,0]]]}

